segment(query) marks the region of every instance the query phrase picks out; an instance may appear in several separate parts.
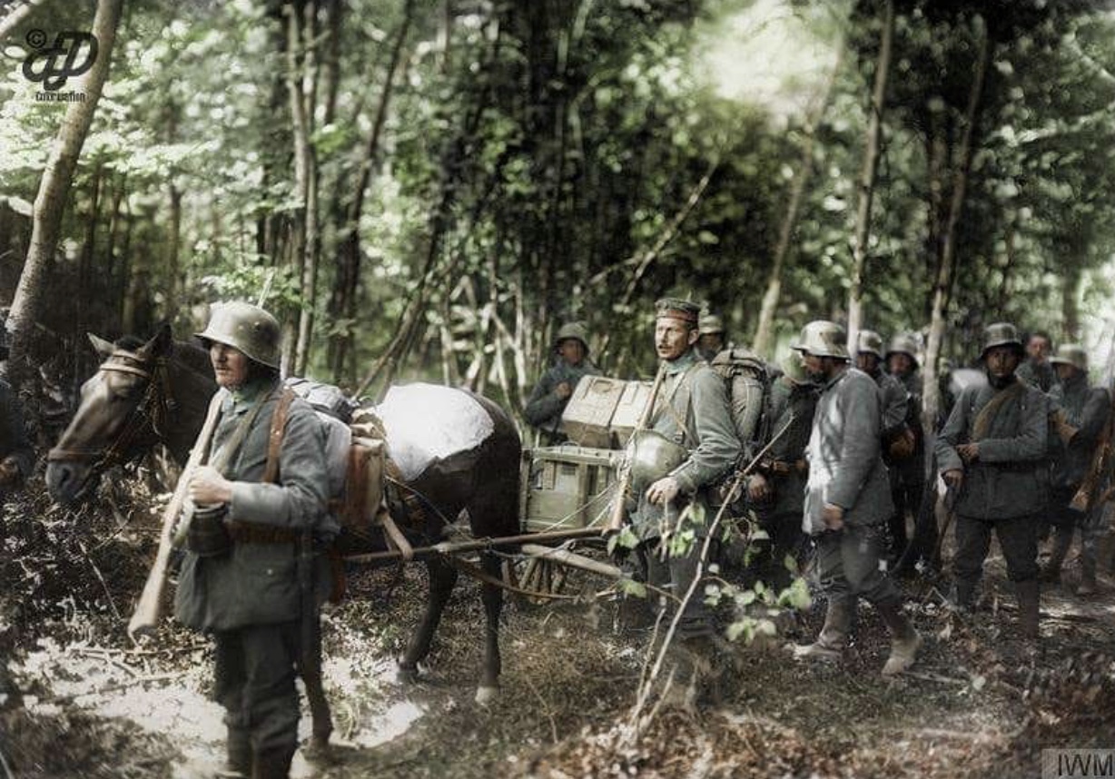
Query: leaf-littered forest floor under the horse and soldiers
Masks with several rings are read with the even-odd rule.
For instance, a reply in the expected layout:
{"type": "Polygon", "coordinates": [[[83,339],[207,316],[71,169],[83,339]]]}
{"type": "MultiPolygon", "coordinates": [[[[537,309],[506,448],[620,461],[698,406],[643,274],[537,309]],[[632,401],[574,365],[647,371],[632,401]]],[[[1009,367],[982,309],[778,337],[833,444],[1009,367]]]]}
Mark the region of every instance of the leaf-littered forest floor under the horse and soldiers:
{"type": "MultiPolygon", "coordinates": [[[[135,649],[117,617],[142,583],[151,528],[11,508],[0,573],[25,592],[0,600],[0,634],[23,700],[0,703],[0,775],[212,776],[223,727],[205,697],[206,642],[168,624],[135,649]],[[85,553],[71,554],[75,539],[85,553]]],[[[886,639],[864,606],[843,663],[740,647],[718,707],[667,707],[636,733],[647,637],[615,629],[614,603],[510,604],[502,695],[478,707],[477,585],[458,587],[421,681],[401,685],[392,659],[419,613],[424,571],[361,571],[355,597],[326,621],[332,759],[300,754],[293,776],[1019,777],[1040,775],[1041,748],[1115,747],[1115,582],[1105,576],[1087,603],[1047,590],[1037,658],[1014,629],[1005,584],[996,558],[988,608],[964,620],[912,584],[909,610],[927,642],[906,676],[879,675],[886,639]]],[[[818,623],[818,612],[805,614],[786,641],[818,623]]]]}

